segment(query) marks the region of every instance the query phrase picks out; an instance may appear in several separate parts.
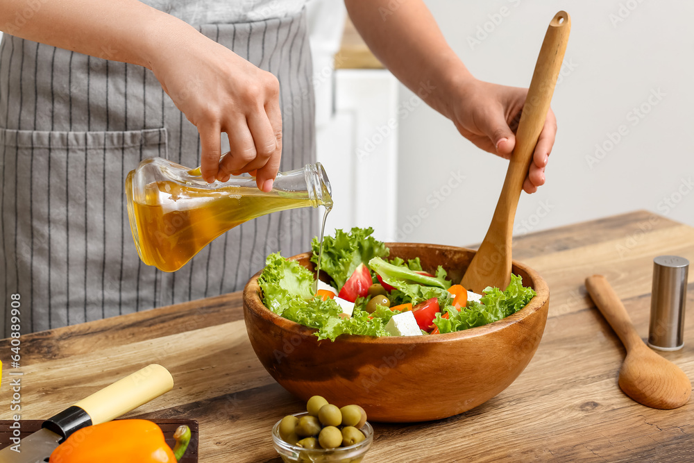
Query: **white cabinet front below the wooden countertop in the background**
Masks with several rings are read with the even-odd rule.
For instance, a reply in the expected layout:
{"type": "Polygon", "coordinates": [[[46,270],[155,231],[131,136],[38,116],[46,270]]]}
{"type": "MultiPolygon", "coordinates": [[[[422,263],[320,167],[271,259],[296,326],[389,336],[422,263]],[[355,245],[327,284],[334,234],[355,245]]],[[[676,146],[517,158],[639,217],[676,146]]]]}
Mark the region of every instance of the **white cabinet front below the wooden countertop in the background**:
{"type": "Polygon", "coordinates": [[[326,233],[371,226],[379,239],[394,241],[397,80],[384,69],[337,69],[333,82],[332,114],[316,121],[318,160],[328,172],[335,200],[326,233]]]}

